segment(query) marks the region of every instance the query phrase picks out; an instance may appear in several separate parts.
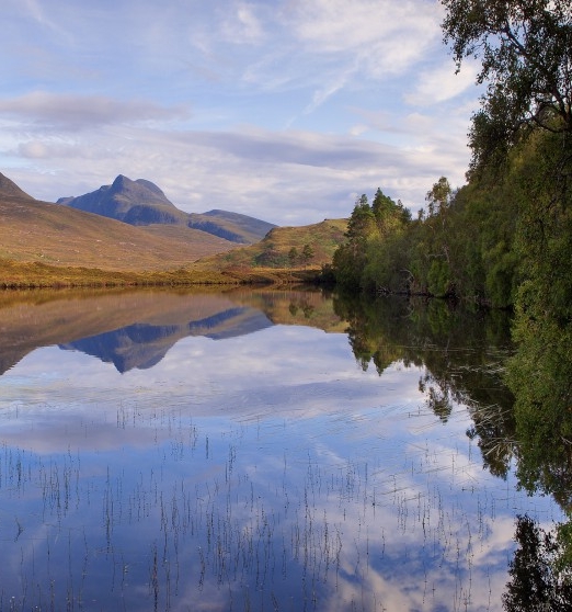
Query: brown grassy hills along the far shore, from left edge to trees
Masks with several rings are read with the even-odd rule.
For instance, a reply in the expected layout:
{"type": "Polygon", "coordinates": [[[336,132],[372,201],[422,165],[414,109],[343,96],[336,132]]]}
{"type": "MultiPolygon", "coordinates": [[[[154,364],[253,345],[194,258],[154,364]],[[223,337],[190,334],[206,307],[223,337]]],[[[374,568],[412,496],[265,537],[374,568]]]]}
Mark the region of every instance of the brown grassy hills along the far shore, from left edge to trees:
{"type": "MultiPolygon", "coordinates": [[[[131,191],[155,192],[147,194],[147,202],[155,200],[170,209],[158,188],[144,181],[133,183],[131,191]]],[[[121,202],[116,205],[119,209],[121,202]]],[[[220,225],[228,220],[234,228],[243,222],[241,215],[225,211],[210,211],[202,217],[220,225]]],[[[242,231],[253,220],[249,217],[242,231]]],[[[346,225],[345,219],[331,219],[304,227],[274,227],[260,242],[238,247],[187,225],[134,226],[36,201],[0,173],[0,285],[305,282],[331,262],[345,239],[346,225]]]]}

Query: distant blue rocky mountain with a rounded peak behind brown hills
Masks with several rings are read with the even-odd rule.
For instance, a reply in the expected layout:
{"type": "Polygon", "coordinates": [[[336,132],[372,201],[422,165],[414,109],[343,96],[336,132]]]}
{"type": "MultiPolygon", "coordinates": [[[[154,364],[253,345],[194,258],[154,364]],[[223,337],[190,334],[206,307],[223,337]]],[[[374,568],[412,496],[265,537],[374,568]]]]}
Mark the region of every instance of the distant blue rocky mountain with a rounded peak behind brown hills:
{"type": "Polygon", "coordinates": [[[185,213],[178,208],[152,182],[131,181],[119,174],[111,185],[77,197],[60,197],[57,204],[79,208],[135,226],[182,225],[218,236],[231,242],[258,242],[273,224],[227,211],[185,213]]]}

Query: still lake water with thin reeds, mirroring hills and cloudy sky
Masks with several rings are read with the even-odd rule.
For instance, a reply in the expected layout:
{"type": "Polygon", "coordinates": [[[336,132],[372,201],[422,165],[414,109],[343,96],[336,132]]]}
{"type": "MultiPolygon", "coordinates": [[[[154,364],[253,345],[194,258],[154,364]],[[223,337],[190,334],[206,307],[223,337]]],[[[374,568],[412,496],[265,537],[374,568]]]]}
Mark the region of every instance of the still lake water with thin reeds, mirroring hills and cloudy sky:
{"type": "Polygon", "coordinates": [[[502,610],[515,517],[562,519],[484,454],[497,321],[401,304],[368,336],[302,291],[2,301],[1,611],[502,610]]]}

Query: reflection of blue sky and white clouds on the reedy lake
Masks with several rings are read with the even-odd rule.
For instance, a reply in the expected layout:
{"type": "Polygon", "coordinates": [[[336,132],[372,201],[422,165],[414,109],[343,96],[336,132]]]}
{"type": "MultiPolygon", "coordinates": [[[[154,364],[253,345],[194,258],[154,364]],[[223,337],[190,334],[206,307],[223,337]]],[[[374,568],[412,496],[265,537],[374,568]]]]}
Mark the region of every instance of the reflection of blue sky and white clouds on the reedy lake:
{"type": "Polygon", "coordinates": [[[186,337],[123,374],[31,352],[0,377],[2,592],[24,576],[104,609],[501,610],[515,508],[558,511],[482,469],[423,369],[373,370],[344,333],[286,325],[186,337]]]}

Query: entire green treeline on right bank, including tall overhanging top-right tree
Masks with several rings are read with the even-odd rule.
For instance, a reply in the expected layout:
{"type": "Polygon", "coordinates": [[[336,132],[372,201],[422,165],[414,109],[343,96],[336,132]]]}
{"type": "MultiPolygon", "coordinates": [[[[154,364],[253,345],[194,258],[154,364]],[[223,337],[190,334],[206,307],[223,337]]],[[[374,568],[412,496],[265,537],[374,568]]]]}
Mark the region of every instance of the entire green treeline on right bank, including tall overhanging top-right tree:
{"type": "Polygon", "coordinates": [[[572,321],[572,4],[441,0],[457,70],[485,86],[468,182],[441,178],[412,219],[378,191],[356,203],[332,271],[341,287],[516,306],[522,330],[572,321]]]}

